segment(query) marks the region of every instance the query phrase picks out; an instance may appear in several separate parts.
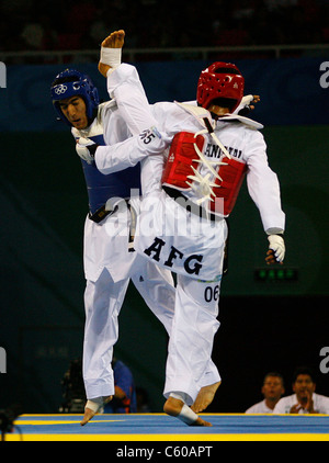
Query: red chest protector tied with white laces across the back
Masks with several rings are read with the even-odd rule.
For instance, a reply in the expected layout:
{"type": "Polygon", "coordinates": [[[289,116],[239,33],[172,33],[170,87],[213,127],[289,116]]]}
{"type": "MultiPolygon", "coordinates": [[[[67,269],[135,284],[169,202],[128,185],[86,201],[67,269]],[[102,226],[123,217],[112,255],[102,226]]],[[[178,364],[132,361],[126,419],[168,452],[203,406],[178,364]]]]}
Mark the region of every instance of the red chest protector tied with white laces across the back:
{"type": "MultiPolygon", "coordinates": [[[[182,192],[191,191],[192,188],[189,176],[194,176],[193,168],[197,170],[200,167],[200,156],[195,150],[194,144],[196,144],[200,151],[202,151],[205,144],[205,137],[203,135],[197,135],[195,137],[194,134],[190,132],[180,132],[174,136],[162,174],[162,185],[182,192]]],[[[231,157],[228,158],[227,156],[224,157],[223,162],[225,162],[225,165],[220,163],[219,166],[214,167],[220,179],[216,177],[212,180],[214,183],[212,190],[215,199],[224,200],[224,212],[222,211],[222,214],[228,216],[235,206],[247,172],[247,166],[243,161],[231,157]]],[[[216,201],[209,201],[208,208],[216,214],[216,201]]]]}

